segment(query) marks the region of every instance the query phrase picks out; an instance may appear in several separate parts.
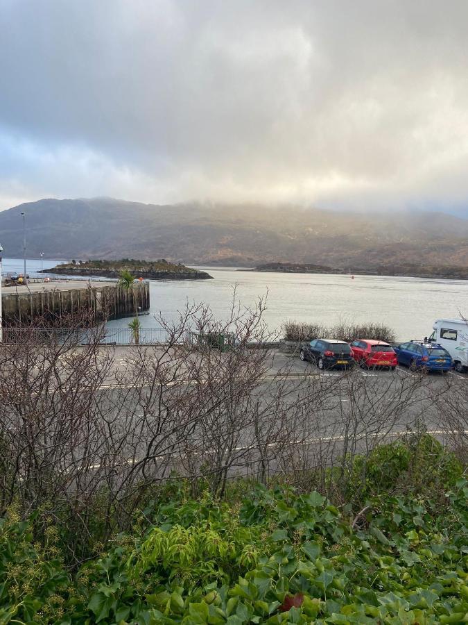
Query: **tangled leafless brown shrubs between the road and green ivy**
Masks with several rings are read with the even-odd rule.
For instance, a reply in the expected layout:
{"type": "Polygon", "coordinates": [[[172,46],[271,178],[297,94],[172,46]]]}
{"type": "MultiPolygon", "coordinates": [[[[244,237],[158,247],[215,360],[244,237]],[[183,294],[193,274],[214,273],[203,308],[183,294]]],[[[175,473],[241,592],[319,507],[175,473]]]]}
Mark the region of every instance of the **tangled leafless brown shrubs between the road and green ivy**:
{"type": "Polygon", "coordinates": [[[243,309],[234,298],[220,322],[207,306],[187,306],[173,322],[157,319],[167,335],[157,347],[103,347],[103,328],[82,344],[79,317],[58,333],[26,328],[3,344],[1,512],[41,510],[38,535],[44,519],[55,522],[76,564],[96,541],[130,528],[175,475],[193,494],[223,497],[227,481],[252,476],[357,501],[356,454],[424,419],[449,381],[297,374],[293,359],[277,366],[274,351],[248,349],[268,342],[264,308],[263,299],[243,309]],[[220,334],[235,340],[198,340],[220,334]]]}

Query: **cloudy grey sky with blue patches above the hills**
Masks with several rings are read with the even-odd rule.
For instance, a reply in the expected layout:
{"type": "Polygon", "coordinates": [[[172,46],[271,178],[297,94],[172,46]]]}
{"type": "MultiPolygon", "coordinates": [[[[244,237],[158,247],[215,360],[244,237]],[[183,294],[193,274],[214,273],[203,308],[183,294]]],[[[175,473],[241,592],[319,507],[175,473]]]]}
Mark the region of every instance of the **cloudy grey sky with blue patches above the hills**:
{"type": "Polygon", "coordinates": [[[467,0],[0,0],[0,210],[468,211],[467,0]]]}

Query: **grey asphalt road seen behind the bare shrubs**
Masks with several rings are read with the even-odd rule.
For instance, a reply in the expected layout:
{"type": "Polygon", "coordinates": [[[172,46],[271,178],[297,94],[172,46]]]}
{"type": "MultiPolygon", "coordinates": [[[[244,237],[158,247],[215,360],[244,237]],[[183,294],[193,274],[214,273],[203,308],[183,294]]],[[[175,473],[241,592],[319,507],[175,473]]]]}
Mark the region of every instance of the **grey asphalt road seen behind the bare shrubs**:
{"type": "MultiPolygon", "coordinates": [[[[251,418],[253,406],[264,433],[262,440],[268,448],[265,452],[268,465],[273,470],[281,470],[285,458],[292,465],[301,455],[302,461],[309,459],[309,464],[318,456],[321,462],[323,458],[332,462],[344,450],[365,451],[378,440],[392,440],[421,427],[445,440],[445,406],[456,398],[457,409],[466,412],[465,406],[468,407],[466,374],[414,373],[406,367],[397,367],[395,372],[364,371],[358,367],[351,372],[320,372],[298,356],[270,351],[268,367],[249,401],[241,397],[239,405],[232,406],[230,420],[223,420],[224,416],[211,421],[211,416],[203,417],[200,423],[185,426],[180,433],[173,429],[167,444],[161,444],[166,436],[165,424],[173,428],[173,417],[167,419],[168,406],[172,414],[174,406],[180,410],[183,420],[185,406],[187,410],[196,406],[198,397],[201,408],[216,394],[223,401],[227,397],[223,394],[225,381],[215,374],[209,381],[182,375],[175,382],[145,383],[131,373],[135,349],[116,347],[101,351],[101,357],[111,356],[112,363],[98,393],[103,426],[101,429],[98,424],[101,438],[95,442],[92,458],[96,468],[101,467],[102,458],[109,453],[107,439],[114,437],[112,444],[118,444],[119,458],[124,464],[139,462],[139,458],[148,456],[148,447],[153,446],[151,462],[158,475],[168,467],[188,471],[189,453],[192,469],[200,467],[208,457],[212,461],[215,456],[223,456],[228,446],[229,474],[245,472],[246,467],[258,465],[261,447],[255,432],[258,423],[251,418]],[[185,401],[188,392],[193,392],[193,396],[185,401]],[[171,458],[166,450],[171,441],[177,440],[177,435],[183,437],[187,451],[185,456],[179,451],[177,458],[171,458]],[[351,449],[349,441],[352,441],[351,449]]],[[[147,355],[148,366],[161,356],[154,348],[148,348],[147,355]]],[[[80,451],[80,443],[74,451],[80,451]]]]}

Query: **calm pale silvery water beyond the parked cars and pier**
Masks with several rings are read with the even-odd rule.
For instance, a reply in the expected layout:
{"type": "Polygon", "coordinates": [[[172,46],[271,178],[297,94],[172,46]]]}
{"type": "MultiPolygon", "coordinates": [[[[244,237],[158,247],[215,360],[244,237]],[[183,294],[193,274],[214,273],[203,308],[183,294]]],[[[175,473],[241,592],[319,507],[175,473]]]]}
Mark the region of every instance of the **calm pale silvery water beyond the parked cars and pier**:
{"type": "MultiPolygon", "coordinates": [[[[61,261],[45,260],[44,269],[61,261]]],[[[31,276],[40,260],[27,260],[31,276]]],[[[156,313],[176,319],[177,311],[193,302],[205,302],[216,317],[225,319],[234,288],[242,306],[267,297],[265,321],[271,330],[287,319],[332,325],[378,322],[395,328],[401,340],[423,338],[439,317],[468,315],[468,281],[392,278],[388,276],[332,276],[325,274],[270,274],[236,269],[202,267],[214,280],[150,281],[150,315],[141,316],[144,327],[155,327],[156,313]]],[[[23,260],[3,260],[3,272],[22,272],[23,260]]],[[[110,326],[126,327],[128,319],[110,326]]]]}

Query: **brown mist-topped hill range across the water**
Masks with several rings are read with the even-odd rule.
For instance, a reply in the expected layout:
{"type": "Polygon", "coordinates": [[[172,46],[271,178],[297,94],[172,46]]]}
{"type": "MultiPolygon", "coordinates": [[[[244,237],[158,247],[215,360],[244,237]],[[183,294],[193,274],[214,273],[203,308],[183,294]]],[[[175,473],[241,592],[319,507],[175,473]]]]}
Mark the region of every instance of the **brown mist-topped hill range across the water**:
{"type": "Polygon", "coordinates": [[[442,213],[42,199],[0,213],[0,242],[10,258],[22,254],[21,211],[30,258],[43,251],[46,258],[166,258],[193,265],[468,265],[468,220],[442,213]]]}

